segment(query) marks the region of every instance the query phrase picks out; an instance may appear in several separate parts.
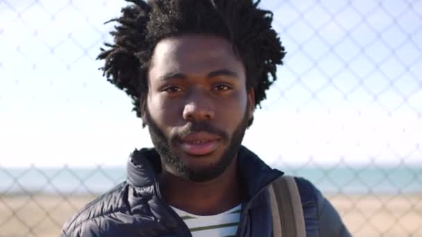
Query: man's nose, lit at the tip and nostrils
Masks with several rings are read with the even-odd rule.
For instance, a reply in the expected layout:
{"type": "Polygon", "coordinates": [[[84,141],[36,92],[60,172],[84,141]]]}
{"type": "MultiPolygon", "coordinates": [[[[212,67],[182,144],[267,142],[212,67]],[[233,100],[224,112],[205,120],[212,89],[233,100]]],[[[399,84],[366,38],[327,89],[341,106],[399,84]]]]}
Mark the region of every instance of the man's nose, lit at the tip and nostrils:
{"type": "Polygon", "coordinates": [[[187,121],[203,121],[214,118],[214,109],[207,96],[200,91],[192,91],[183,109],[183,119],[187,121]]]}

